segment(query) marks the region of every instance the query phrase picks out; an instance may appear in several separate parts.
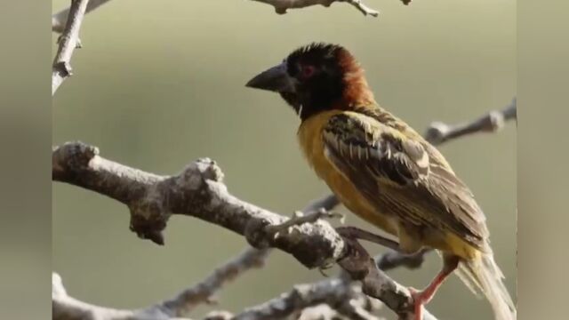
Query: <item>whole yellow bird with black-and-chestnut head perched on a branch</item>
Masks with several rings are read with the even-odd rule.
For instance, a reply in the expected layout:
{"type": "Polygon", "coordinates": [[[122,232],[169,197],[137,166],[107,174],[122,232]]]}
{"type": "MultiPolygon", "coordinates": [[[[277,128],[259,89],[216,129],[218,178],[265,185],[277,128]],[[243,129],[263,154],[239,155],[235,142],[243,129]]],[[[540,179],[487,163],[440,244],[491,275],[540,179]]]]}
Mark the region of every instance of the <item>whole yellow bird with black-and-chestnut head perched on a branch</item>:
{"type": "Polygon", "coordinates": [[[437,148],[378,105],[346,49],[309,44],[246,86],[278,92],[300,116],[304,156],[349,211],[397,236],[401,252],[441,253],[437,276],[424,290],[411,290],[416,319],[453,271],[485,294],[496,319],[516,318],[469,188],[437,148]]]}

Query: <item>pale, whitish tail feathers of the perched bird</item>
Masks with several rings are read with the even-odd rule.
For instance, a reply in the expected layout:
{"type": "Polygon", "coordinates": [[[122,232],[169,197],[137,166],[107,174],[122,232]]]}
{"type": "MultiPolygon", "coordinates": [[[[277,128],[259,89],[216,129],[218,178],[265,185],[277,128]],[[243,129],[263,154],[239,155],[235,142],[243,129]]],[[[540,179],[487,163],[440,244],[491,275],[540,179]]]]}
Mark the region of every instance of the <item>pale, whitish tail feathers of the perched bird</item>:
{"type": "Polygon", "coordinates": [[[482,253],[478,259],[461,260],[455,273],[472,292],[485,295],[492,305],[496,320],[516,319],[516,305],[502,282],[504,275],[494,261],[492,252],[482,253]]]}

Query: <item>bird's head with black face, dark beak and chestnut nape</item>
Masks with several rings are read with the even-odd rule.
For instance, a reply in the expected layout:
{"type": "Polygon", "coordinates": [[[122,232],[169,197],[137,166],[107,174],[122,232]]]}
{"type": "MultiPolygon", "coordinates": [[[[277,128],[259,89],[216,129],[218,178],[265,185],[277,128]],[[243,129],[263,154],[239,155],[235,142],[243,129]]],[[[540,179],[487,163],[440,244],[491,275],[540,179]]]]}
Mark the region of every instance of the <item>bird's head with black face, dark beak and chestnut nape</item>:
{"type": "Polygon", "coordinates": [[[302,119],[331,109],[373,104],[364,70],[337,44],[309,44],[282,63],[253,77],[246,86],[278,92],[302,119]]]}

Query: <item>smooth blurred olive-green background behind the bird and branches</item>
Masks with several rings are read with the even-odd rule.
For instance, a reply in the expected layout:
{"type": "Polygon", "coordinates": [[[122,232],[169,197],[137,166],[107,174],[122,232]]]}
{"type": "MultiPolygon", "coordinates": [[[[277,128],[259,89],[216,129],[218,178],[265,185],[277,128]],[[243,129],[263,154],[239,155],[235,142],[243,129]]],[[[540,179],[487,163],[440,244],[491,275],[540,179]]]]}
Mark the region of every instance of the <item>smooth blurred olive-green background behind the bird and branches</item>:
{"type": "MultiPolygon", "coordinates": [[[[379,18],[349,4],[279,16],[252,1],[111,1],[84,20],[74,76],[53,99],[52,143],[83,140],[102,156],[161,174],[209,156],[234,195],[288,215],[327,188],[301,157],[293,111],[276,94],[244,83],[296,47],[346,46],[381,106],[419,132],[432,121],[461,122],[503,108],[516,95],[515,1],[367,4],[381,11],[379,18]]],[[[67,5],[54,0],[52,10],[67,5]]],[[[516,124],[440,149],[484,209],[496,260],[515,292],[516,124]]],[[[160,247],[138,239],[128,223],[123,204],[53,184],[52,268],[71,295],[116,308],[147,306],[203,279],[247,245],[225,229],[174,217],[160,247]]],[[[373,230],[353,214],[347,223],[373,230]]],[[[433,254],[420,270],[389,274],[421,288],[440,264],[433,254]]],[[[238,311],[319,279],[317,270],[273,252],[265,268],[220,292],[213,308],[238,311]]],[[[491,318],[488,304],[456,277],[429,309],[441,319],[491,318]]]]}

